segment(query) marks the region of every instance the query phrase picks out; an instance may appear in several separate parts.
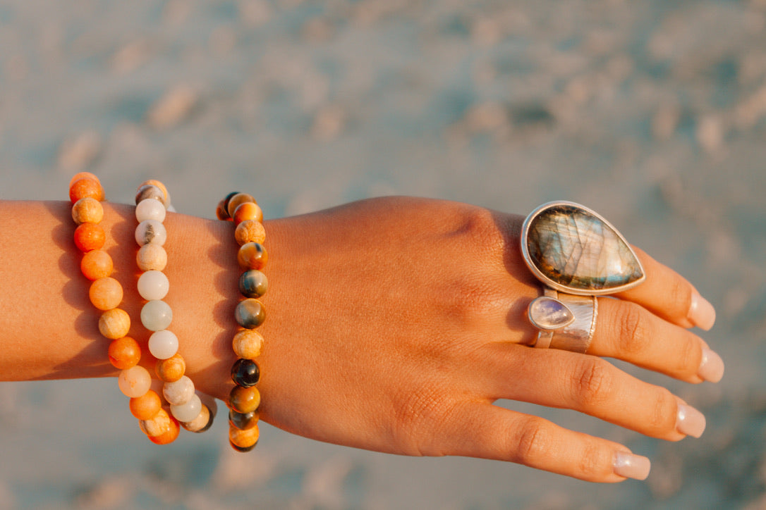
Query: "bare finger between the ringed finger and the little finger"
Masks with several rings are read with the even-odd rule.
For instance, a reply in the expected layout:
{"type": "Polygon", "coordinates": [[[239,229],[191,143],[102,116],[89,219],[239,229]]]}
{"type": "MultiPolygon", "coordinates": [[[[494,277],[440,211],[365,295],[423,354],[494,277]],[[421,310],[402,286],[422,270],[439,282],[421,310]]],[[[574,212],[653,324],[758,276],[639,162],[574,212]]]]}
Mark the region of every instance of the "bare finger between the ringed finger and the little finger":
{"type": "Polygon", "coordinates": [[[702,413],[666,388],[628,375],[604,359],[556,349],[506,349],[516,352],[505,356],[505,363],[498,352],[487,352],[492,387],[486,390],[496,398],[572,409],[665,440],[699,437],[705,430],[702,413]]]}

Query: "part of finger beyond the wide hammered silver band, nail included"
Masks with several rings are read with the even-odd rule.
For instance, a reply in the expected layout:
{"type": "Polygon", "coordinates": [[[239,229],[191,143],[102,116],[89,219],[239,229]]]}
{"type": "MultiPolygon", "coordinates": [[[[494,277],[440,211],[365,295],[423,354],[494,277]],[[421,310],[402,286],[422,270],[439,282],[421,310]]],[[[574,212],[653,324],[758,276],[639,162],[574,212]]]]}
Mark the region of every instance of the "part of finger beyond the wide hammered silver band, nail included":
{"type": "Polygon", "coordinates": [[[719,382],[724,370],[721,357],[699,336],[637,304],[609,298],[598,301],[588,354],[622,359],[686,382],[719,382]]]}

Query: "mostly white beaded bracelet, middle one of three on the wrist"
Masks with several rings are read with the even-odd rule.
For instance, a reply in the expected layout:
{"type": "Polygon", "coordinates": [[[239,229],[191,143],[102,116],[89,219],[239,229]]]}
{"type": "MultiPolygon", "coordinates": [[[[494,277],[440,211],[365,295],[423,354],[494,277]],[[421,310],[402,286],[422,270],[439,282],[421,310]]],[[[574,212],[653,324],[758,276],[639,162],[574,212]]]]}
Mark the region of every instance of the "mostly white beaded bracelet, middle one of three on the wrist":
{"type": "MultiPolygon", "coordinates": [[[[149,352],[157,359],[155,373],[164,383],[162,395],[170,405],[171,421],[177,420],[191,432],[204,432],[213,423],[214,409],[202,403],[195,393],[194,382],[185,375],[186,363],[178,353],[178,337],[168,330],[172,310],[163,300],[170,288],[168,277],[162,272],[168,260],[163,248],[167,232],[162,222],[169,206],[168,190],[159,180],[147,180],[139,185],[136,242],[140,248],[136,262],[144,272],[139,276],[138,291],[147,300],[141,310],[141,323],[153,332],[149,337],[149,352]]],[[[146,421],[142,422],[142,430],[147,435],[153,432],[146,421]]]]}

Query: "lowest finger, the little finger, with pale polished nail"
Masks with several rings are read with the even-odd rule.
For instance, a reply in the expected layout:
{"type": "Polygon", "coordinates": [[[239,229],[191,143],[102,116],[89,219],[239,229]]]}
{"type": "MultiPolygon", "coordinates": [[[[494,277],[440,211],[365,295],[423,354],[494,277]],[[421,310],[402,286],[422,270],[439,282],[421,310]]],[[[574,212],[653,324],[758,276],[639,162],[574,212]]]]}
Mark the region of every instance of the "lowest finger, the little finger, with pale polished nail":
{"type": "Polygon", "coordinates": [[[540,417],[486,402],[456,408],[444,430],[444,454],[506,460],[588,480],[645,479],[650,462],[619,443],[559,427],[540,417]]]}

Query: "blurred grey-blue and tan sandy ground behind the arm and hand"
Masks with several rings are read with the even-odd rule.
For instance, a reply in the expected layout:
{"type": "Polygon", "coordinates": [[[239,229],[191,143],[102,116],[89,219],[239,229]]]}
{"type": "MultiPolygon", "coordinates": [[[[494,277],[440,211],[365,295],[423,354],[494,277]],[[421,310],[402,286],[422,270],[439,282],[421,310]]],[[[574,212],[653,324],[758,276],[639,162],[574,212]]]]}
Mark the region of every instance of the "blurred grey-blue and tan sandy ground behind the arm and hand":
{"type": "Polygon", "coordinates": [[[652,457],[618,486],[267,425],[237,456],[224,420],[159,448],[114,381],[3,383],[0,508],[766,508],[764,161],[764,0],[0,0],[0,198],[89,170],[201,216],[233,189],[269,217],[575,200],[698,285],[727,362],[715,386],[640,374],[705,411],[700,440],[513,404],[652,457]]]}

